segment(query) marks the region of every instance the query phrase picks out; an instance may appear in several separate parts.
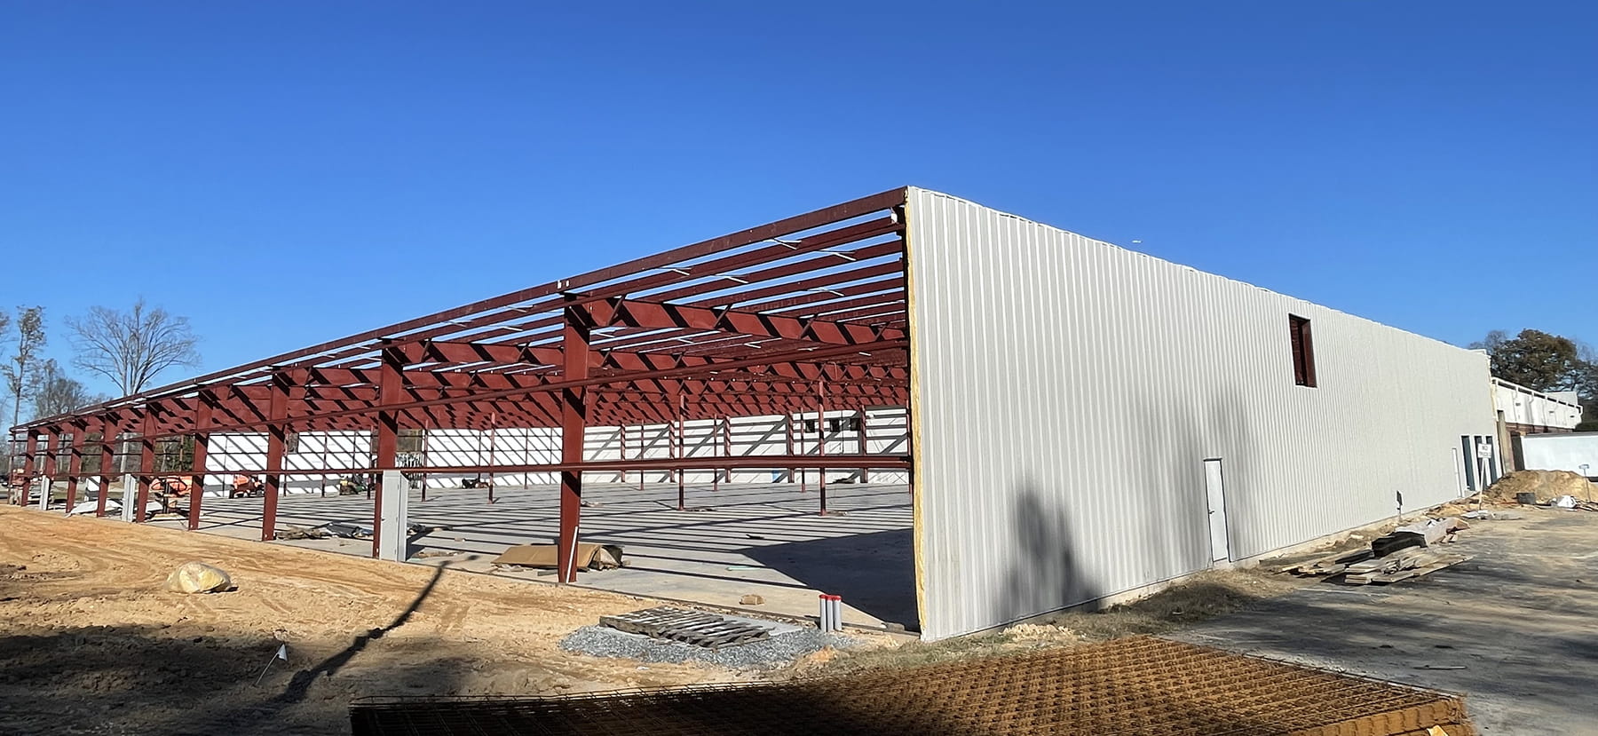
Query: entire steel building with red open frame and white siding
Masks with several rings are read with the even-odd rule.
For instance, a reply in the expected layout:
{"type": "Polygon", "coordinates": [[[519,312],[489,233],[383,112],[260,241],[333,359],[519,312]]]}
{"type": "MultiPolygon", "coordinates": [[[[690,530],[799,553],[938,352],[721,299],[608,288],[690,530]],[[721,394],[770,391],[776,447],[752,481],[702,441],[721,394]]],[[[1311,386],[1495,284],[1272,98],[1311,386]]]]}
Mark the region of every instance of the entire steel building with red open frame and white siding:
{"type": "MultiPolygon", "coordinates": [[[[837,516],[829,484],[884,484],[912,565],[882,586],[941,639],[1456,498],[1496,473],[1489,386],[1481,353],[911,187],[42,418],[13,442],[69,506],[104,512],[118,466],[142,509],[158,455],[195,437],[195,482],[260,473],[244,501],[262,540],[291,476],[380,476],[360,501],[388,559],[409,554],[406,474],[513,479],[558,509],[562,583],[580,540],[606,541],[585,484],[678,484],[681,516],[663,519],[679,520],[657,536],[705,524],[686,482],[765,481],[809,517],[837,516]],[[417,436],[475,439],[417,453],[417,436]],[[802,490],[783,489],[796,473],[802,490]]],[[[224,503],[240,500],[192,493],[187,527],[224,503]]],[[[837,565],[858,557],[849,540],[831,540],[837,565]]]]}

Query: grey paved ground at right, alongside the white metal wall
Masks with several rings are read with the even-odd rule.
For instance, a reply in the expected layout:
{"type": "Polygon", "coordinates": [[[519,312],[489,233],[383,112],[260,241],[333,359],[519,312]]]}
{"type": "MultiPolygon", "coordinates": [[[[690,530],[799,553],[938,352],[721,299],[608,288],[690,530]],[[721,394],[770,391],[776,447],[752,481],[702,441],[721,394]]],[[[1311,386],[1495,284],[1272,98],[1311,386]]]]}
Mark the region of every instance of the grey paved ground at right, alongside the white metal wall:
{"type": "Polygon", "coordinates": [[[1598,514],[1517,511],[1390,586],[1302,588],[1173,634],[1194,643],[1465,694],[1483,734],[1598,734],[1598,514]]]}

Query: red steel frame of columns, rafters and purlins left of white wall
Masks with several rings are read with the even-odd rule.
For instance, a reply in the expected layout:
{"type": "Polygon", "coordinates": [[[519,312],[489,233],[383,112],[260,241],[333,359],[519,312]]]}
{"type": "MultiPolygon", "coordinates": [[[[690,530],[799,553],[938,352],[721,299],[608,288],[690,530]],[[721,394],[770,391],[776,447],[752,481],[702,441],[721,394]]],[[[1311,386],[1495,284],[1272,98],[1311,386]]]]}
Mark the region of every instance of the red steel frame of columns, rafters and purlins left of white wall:
{"type": "MultiPolygon", "coordinates": [[[[70,489],[80,457],[97,449],[104,514],[117,447],[129,429],[139,442],[141,508],[160,439],[200,439],[190,471],[200,481],[244,471],[221,466],[219,453],[208,457],[205,437],[264,433],[262,540],[272,540],[289,433],[372,431],[369,466],[294,471],[350,474],[398,469],[401,429],[559,426],[559,463],[406,471],[559,473],[559,580],[570,581],[585,471],[671,471],[681,482],[686,469],[781,468],[791,481],[794,468],[813,468],[823,471],[825,512],[825,469],[909,469],[908,455],[869,455],[865,442],[849,455],[825,449],[826,409],[852,409],[863,421],[868,407],[909,404],[903,204],[903,188],[882,192],[35,420],[13,428],[13,444],[26,445],[19,453],[32,473],[45,434],[43,468],[54,477],[61,436],[70,433],[70,489]],[[681,436],[668,458],[644,458],[642,447],[633,460],[583,453],[588,426],[657,423],[681,434],[684,420],[754,415],[785,415],[791,426],[807,410],[817,412],[823,436],[815,455],[794,455],[789,439],[786,455],[732,457],[729,447],[721,457],[684,457],[681,436]],[[99,429],[97,442],[88,441],[89,428],[99,429]]],[[[198,527],[200,497],[189,528],[198,527]]],[[[380,497],[372,498],[374,519],[380,497]]]]}

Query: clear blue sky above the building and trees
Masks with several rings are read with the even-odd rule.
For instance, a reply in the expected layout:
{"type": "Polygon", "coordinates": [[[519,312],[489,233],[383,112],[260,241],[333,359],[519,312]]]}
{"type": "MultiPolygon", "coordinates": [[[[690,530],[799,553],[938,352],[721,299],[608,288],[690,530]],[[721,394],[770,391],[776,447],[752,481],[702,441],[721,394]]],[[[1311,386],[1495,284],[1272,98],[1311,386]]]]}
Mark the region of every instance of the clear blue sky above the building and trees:
{"type": "Polygon", "coordinates": [[[0,303],[209,370],[914,184],[1598,342],[1598,3],[678,5],[5,3],[0,303]]]}

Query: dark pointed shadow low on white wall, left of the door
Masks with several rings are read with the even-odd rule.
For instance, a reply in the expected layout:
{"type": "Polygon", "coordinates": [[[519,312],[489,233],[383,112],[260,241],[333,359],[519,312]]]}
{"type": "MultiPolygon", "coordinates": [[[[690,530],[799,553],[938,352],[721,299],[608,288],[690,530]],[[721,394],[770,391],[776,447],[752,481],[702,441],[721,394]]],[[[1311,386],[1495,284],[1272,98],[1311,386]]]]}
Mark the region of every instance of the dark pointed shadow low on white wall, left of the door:
{"type": "Polygon", "coordinates": [[[994,621],[1010,623],[1101,597],[1077,557],[1064,506],[1043,500],[1031,481],[1010,514],[1010,557],[994,621]]]}

